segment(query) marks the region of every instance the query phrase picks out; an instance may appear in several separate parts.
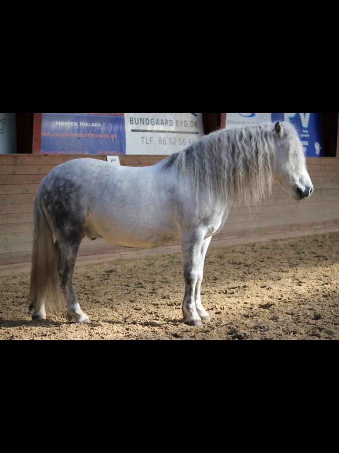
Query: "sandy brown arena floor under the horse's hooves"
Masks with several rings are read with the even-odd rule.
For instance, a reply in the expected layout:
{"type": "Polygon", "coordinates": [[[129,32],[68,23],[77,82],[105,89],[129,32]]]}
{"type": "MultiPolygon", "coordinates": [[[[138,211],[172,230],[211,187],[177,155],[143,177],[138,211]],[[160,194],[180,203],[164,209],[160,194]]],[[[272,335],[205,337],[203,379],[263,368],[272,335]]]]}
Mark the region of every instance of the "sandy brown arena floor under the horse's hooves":
{"type": "Polygon", "coordinates": [[[179,254],[78,266],[74,284],[91,324],[62,310],[32,321],[29,274],[0,278],[0,339],[339,339],[339,233],[210,248],[202,303],[210,323],[182,323],[179,254]]]}

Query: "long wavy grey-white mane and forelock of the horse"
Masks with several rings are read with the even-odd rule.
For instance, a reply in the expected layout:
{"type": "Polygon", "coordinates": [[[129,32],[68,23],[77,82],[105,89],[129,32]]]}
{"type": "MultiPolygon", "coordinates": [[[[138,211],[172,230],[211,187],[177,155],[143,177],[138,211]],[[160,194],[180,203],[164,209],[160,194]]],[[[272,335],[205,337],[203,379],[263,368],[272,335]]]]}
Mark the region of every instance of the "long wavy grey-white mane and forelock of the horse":
{"type": "MultiPolygon", "coordinates": [[[[293,125],[283,122],[282,127],[284,140],[299,141],[293,125]]],[[[193,178],[197,199],[199,188],[206,188],[210,200],[258,204],[272,191],[275,134],[274,123],[217,130],[172,154],[162,168],[176,166],[193,178]]]]}

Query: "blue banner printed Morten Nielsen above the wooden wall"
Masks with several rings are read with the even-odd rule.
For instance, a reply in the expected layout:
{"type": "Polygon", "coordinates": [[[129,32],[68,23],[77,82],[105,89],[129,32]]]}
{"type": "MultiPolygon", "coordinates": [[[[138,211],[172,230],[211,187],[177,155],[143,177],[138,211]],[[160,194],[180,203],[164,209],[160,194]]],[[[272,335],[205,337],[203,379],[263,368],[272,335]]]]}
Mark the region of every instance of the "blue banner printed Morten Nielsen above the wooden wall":
{"type": "Polygon", "coordinates": [[[123,113],[42,113],[41,152],[126,154],[123,113]]]}

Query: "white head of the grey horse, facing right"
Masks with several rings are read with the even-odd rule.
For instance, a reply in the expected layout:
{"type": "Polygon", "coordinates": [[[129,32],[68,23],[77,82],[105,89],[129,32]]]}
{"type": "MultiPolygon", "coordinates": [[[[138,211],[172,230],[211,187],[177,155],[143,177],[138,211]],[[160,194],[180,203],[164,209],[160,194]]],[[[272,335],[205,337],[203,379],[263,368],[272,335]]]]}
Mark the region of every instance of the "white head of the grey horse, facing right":
{"type": "Polygon", "coordinates": [[[297,131],[291,123],[277,121],[273,134],[276,143],[274,178],[296,200],[309,198],[313,184],[297,131]]]}

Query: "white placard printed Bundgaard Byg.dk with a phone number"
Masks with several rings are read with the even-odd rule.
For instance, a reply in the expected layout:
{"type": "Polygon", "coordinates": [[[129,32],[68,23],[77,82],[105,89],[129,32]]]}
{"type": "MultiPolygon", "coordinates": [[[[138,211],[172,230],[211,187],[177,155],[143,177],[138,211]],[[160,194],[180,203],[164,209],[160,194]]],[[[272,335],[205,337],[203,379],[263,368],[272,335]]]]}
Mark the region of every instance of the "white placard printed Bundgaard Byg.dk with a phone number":
{"type": "Polygon", "coordinates": [[[172,154],[203,135],[202,113],[125,113],[126,154],[172,154]]]}

